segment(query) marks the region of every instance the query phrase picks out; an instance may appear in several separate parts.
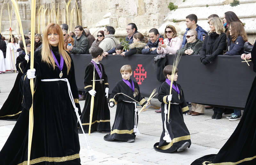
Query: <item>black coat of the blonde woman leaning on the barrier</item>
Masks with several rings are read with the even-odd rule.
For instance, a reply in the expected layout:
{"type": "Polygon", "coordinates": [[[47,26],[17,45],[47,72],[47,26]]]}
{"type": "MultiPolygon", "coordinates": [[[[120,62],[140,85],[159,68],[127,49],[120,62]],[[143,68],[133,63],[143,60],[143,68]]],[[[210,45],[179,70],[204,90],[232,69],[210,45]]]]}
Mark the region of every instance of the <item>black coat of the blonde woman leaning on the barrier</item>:
{"type": "Polygon", "coordinates": [[[223,54],[223,50],[226,46],[227,35],[221,33],[220,35],[213,32],[210,35],[206,35],[204,43],[200,51],[200,60],[203,64],[212,63],[212,61],[218,56],[223,54]],[[205,56],[209,54],[209,56],[205,56]]]}

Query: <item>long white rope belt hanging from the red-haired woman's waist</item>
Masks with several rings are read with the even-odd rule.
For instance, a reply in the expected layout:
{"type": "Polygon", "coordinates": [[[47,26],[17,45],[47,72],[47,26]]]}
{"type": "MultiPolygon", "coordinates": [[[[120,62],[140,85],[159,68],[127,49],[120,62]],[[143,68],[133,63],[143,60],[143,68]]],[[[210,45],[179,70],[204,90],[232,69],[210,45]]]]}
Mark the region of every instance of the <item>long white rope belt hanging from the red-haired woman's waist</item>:
{"type": "Polygon", "coordinates": [[[83,131],[84,138],[85,138],[85,141],[86,141],[86,144],[87,144],[87,149],[89,150],[89,153],[90,153],[90,154],[89,154],[89,157],[90,157],[92,160],[94,160],[95,157],[94,157],[94,154],[92,153],[92,148],[91,148],[91,146],[90,146],[90,144],[89,144],[89,140],[86,138],[86,135],[85,135],[85,133],[84,133],[84,129],[83,129],[83,126],[82,126],[82,122],[81,122],[80,117],[79,117],[79,114],[78,114],[78,108],[76,107],[75,100],[74,100],[74,98],[73,98],[73,95],[72,95],[72,92],[71,92],[71,88],[70,88],[70,84],[69,84],[69,82],[68,82],[68,79],[67,79],[67,78],[63,78],[63,79],[43,79],[43,80],[41,80],[41,81],[43,81],[43,82],[65,81],[65,82],[67,82],[69,98],[70,98],[71,103],[72,103],[72,105],[73,105],[73,107],[74,107],[74,109],[75,109],[77,120],[78,120],[78,122],[79,122],[79,124],[80,124],[80,126],[81,126],[82,131],[83,131]]]}

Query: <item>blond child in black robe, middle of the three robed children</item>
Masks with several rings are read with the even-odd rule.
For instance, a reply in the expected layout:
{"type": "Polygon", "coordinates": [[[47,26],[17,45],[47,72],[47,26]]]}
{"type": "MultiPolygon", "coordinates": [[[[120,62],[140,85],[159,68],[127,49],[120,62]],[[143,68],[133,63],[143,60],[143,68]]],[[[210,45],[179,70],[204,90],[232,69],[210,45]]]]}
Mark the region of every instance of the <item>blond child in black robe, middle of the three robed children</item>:
{"type": "Polygon", "coordinates": [[[105,135],[104,140],[113,141],[116,139],[132,143],[135,141],[136,135],[140,134],[138,130],[138,109],[134,100],[138,101],[140,105],[146,104],[147,101],[140,96],[138,83],[130,78],[132,75],[131,66],[124,65],[121,67],[120,73],[123,80],[116,84],[109,100],[110,107],[114,107],[117,102],[115,121],[110,134],[105,135]]]}

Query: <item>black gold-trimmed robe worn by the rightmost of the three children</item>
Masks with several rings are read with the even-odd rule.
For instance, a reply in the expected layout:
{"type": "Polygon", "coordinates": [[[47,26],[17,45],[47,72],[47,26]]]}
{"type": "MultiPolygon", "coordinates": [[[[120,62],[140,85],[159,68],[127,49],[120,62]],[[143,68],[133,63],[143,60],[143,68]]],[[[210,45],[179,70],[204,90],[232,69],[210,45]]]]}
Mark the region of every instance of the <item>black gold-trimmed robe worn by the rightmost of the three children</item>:
{"type": "MultiPolygon", "coordinates": [[[[175,84],[175,82],[173,84],[175,84]]],[[[180,84],[177,83],[177,86],[180,90],[180,99],[179,99],[178,93],[172,88],[172,100],[171,100],[172,104],[170,107],[170,119],[169,119],[170,123],[168,123],[167,121],[168,114],[164,114],[165,104],[167,105],[167,110],[168,110],[168,104],[169,104],[168,95],[170,94],[170,85],[164,82],[159,87],[157,98],[160,102],[162,102],[161,114],[162,114],[162,122],[163,122],[163,132],[160,137],[160,142],[157,142],[154,145],[154,149],[158,152],[162,152],[162,153],[175,152],[185,142],[189,142],[189,144],[191,145],[190,133],[188,131],[188,128],[183,118],[183,114],[189,112],[189,109],[188,109],[186,100],[184,98],[184,93],[183,93],[183,90],[181,89],[180,84]],[[166,115],[166,127],[172,139],[170,143],[167,143],[163,139],[165,136],[165,129],[164,129],[165,115],[166,115]]]]}

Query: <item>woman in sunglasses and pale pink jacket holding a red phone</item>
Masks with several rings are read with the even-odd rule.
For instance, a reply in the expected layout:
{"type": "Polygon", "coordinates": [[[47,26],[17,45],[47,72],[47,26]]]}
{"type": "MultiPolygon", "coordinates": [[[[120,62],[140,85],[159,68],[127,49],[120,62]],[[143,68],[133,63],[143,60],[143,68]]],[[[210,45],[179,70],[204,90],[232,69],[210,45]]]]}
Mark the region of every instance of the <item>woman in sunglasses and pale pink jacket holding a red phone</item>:
{"type": "Polygon", "coordinates": [[[181,39],[178,37],[174,26],[167,25],[164,29],[164,43],[158,43],[157,53],[176,54],[182,45],[181,39]]]}

